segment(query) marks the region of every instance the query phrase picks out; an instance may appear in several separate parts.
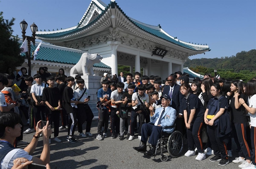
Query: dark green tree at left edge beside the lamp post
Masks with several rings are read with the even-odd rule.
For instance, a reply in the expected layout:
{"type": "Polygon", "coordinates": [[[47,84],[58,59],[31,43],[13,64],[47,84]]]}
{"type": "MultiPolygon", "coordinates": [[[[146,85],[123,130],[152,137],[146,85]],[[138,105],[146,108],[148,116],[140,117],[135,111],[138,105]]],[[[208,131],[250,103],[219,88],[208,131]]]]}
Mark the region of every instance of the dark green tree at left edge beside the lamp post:
{"type": "Polygon", "coordinates": [[[4,19],[3,12],[0,12],[0,72],[5,72],[8,66],[15,69],[24,63],[25,57],[20,55],[17,36],[11,38],[14,21],[15,18],[4,19]]]}

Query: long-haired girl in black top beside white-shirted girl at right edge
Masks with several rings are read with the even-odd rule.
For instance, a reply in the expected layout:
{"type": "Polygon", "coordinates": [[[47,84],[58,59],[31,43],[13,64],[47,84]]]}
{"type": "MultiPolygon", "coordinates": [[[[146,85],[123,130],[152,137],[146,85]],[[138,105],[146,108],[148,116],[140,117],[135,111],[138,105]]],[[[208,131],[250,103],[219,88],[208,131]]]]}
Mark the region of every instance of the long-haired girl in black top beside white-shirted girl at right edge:
{"type": "MultiPolygon", "coordinates": [[[[230,86],[230,112],[232,131],[237,145],[239,157],[233,163],[241,163],[240,168],[251,164],[250,148],[246,141],[247,117],[245,116],[244,106],[239,103],[239,98],[245,100],[243,84],[240,80],[234,80],[230,86]]],[[[247,101],[245,101],[247,103],[247,101]]]]}

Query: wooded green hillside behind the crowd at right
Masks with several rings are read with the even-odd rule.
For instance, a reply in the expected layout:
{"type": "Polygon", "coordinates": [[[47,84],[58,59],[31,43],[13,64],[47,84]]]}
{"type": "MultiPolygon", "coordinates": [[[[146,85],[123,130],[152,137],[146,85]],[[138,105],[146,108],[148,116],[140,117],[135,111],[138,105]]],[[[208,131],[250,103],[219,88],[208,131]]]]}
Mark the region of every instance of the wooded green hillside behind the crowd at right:
{"type": "Polygon", "coordinates": [[[221,57],[213,59],[188,59],[184,67],[189,67],[192,71],[214,75],[214,69],[220,77],[230,80],[248,81],[256,77],[256,50],[248,52],[241,51],[236,56],[221,57]]]}

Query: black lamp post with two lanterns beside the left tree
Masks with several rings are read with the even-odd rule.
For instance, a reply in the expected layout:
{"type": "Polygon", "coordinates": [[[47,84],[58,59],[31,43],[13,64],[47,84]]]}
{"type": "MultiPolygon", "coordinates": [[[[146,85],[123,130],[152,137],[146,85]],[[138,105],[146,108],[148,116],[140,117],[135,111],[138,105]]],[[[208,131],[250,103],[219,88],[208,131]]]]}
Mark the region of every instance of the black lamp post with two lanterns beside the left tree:
{"type": "Polygon", "coordinates": [[[29,67],[29,75],[31,76],[31,44],[30,42],[33,42],[33,45],[35,46],[35,33],[37,32],[37,25],[33,23],[30,25],[30,29],[32,31],[32,36],[26,36],[26,29],[27,29],[27,23],[25,20],[20,22],[20,27],[21,27],[21,33],[22,33],[22,40],[24,41],[27,38],[27,49],[28,51],[26,52],[26,59],[27,59],[27,65],[29,67]]]}

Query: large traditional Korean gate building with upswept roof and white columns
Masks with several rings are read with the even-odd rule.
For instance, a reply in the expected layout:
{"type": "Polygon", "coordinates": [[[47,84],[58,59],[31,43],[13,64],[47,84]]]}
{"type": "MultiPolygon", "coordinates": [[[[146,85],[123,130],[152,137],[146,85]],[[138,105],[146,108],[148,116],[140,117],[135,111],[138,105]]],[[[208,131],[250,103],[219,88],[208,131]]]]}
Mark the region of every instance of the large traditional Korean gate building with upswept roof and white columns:
{"type": "Polygon", "coordinates": [[[143,68],[143,74],[160,75],[163,79],[175,71],[183,72],[187,57],[210,51],[208,45],[181,41],[160,25],[151,26],[128,17],[116,2],[106,5],[101,0],[91,1],[78,25],[40,31],[36,38],[60,47],[99,53],[104,58],[101,62],[111,67],[112,74],[117,74],[119,64],[130,66],[131,73],[133,67],[135,71],[143,68]],[[160,49],[159,56],[152,55],[155,48],[160,49]]]}

